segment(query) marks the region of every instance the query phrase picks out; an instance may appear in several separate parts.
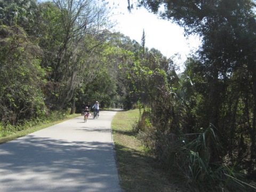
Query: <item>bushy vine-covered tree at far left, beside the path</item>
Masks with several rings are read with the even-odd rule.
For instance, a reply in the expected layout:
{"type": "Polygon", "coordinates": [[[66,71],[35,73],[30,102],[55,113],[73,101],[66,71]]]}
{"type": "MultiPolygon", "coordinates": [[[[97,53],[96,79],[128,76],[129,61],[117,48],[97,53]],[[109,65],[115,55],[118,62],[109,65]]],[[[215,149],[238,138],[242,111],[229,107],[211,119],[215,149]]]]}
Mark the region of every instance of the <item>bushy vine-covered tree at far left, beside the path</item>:
{"type": "Polygon", "coordinates": [[[3,124],[44,118],[41,57],[42,50],[29,42],[22,28],[0,26],[0,119],[3,124]]]}

